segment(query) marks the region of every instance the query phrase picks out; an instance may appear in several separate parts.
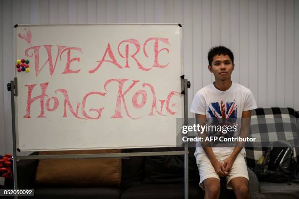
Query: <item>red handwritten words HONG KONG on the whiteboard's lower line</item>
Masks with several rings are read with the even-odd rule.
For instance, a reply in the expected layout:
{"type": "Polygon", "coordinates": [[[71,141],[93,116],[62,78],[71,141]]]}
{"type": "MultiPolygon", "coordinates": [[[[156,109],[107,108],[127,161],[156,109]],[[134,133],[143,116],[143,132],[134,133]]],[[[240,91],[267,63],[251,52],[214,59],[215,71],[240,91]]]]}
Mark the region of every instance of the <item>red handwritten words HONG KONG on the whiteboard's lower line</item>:
{"type": "MultiPolygon", "coordinates": [[[[86,100],[88,98],[91,98],[91,96],[97,95],[100,97],[105,98],[106,94],[107,94],[107,85],[110,84],[111,82],[116,82],[118,83],[118,89],[117,89],[117,98],[116,98],[116,104],[115,104],[115,113],[114,115],[112,115],[110,118],[115,118],[115,119],[121,119],[123,118],[123,114],[122,114],[122,107],[125,109],[127,116],[130,119],[139,119],[143,116],[140,116],[138,118],[134,118],[130,115],[129,111],[128,111],[128,106],[127,106],[127,101],[125,100],[126,95],[130,92],[130,90],[136,86],[136,84],[139,83],[139,80],[132,80],[132,83],[128,86],[128,88],[125,90],[124,89],[124,83],[128,81],[128,79],[109,79],[105,82],[104,84],[104,89],[106,92],[98,92],[98,91],[94,91],[94,92],[89,92],[87,93],[84,97],[82,102],[76,102],[76,110],[74,110],[73,106],[71,105],[71,101],[69,100],[68,97],[68,92],[65,89],[59,88],[55,90],[55,93],[61,93],[64,96],[64,100],[63,100],[63,107],[64,107],[64,114],[63,117],[67,117],[66,114],[66,109],[68,108],[69,111],[72,113],[72,115],[75,118],[78,119],[100,119],[101,115],[102,115],[102,111],[105,109],[105,107],[101,107],[101,108],[91,108],[89,109],[89,111],[94,111],[97,113],[97,117],[91,117],[90,115],[88,115],[86,113],[85,110],[85,103],[86,100]],[[81,113],[83,117],[79,117],[79,110],[81,109],[81,113]]],[[[30,84],[30,85],[25,85],[28,87],[28,92],[27,92],[27,105],[26,105],[26,114],[24,115],[23,118],[31,118],[30,116],[30,110],[32,107],[33,102],[35,101],[40,101],[39,105],[40,105],[40,114],[39,116],[37,116],[37,118],[46,118],[45,116],[45,110],[47,110],[48,112],[52,112],[55,111],[60,104],[60,101],[58,100],[57,97],[49,97],[46,94],[46,90],[47,87],[49,85],[49,82],[44,82],[40,84],[40,89],[41,89],[41,95],[39,96],[35,96],[32,97],[32,92],[33,89],[38,89],[38,87],[36,87],[37,84],[30,84]],[[52,103],[53,101],[53,103],[52,103]],[[52,107],[50,107],[50,104],[53,104],[52,107]]],[[[140,84],[139,84],[140,85],[140,84]]],[[[177,103],[171,103],[171,99],[173,97],[177,97],[177,98],[181,98],[181,94],[179,92],[176,91],[171,91],[166,100],[159,100],[160,101],[160,110],[157,109],[157,102],[156,102],[156,93],[155,93],[155,89],[153,88],[153,86],[149,83],[142,83],[142,87],[143,88],[148,88],[151,92],[152,95],[152,102],[151,102],[151,109],[149,111],[148,116],[153,116],[154,112],[156,112],[158,115],[161,116],[166,116],[165,114],[163,114],[163,110],[166,110],[164,112],[167,112],[170,115],[175,115],[177,114],[177,112],[171,110],[170,108],[170,104],[171,107],[178,107],[177,103]],[[165,106],[164,106],[165,105],[165,106]],[[165,109],[164,109],[165,108],[165,109]]],[[[131,92],[132,94],[132,92],[131,92]]],[[[91,99],[92,100],[92,99],[91,99]]],[[[145,104],[147,103],[148,100],[148,93],[147,91],[140,89],[138,91],[136,91],[131,98],[131,105],[134,109],[141,109],[145,106],[145,104]],[[141,97],[141,102],[138,102],[138,98],[141,97]]],[[[175,100],[175,99],[174,99],[175,100]]],[[[177,99],[176,99],[177,100],[177,99]]]]}

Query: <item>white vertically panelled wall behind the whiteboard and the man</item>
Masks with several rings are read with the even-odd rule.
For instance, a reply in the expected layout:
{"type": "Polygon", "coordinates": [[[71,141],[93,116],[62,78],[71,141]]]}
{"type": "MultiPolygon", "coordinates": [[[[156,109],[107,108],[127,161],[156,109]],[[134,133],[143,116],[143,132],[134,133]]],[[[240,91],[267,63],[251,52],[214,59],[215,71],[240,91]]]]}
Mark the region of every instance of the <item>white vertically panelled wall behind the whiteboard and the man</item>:
{"type": "Polygon", "coordinates": [[[214,80],[207,53],[221,44],[235,55],[232,79],[259,107],[299,109],[299,0],[2,0],[0,13],[0,154],[11,152],[2,142],[11,143],[16,23],[181,23],[189,103],[214,80]]]}

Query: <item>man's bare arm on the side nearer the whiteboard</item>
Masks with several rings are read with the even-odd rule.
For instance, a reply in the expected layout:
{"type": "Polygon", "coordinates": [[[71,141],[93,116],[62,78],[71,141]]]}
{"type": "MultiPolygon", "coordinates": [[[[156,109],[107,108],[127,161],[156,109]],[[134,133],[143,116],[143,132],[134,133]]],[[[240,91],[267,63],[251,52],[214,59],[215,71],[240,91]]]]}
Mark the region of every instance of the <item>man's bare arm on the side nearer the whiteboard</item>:
{"type": "MultiPolygon", "coordinates": [[[[196,122],[199,125],[205,125],[207,122],[206,115],[195,114],[195,118],[196,118],[196,122]]],[[[204,131],[204,132],[202,132],[201,135],[198,135],[198,136],[205,139],[207,135],[206,135],[206,132],[204,131]]],[[[207,154],[208,158],[210,159],[210,161],[215,169],[215,172],[221,177],[226,176],[227,171],[226,171],[224,165],[220,161],[218,161],[218,159],[216,159],[212,148],[209,146],[207,146],[207,147],[202,146],[202,148],[205,151],[205,153],[207,154]]]]}

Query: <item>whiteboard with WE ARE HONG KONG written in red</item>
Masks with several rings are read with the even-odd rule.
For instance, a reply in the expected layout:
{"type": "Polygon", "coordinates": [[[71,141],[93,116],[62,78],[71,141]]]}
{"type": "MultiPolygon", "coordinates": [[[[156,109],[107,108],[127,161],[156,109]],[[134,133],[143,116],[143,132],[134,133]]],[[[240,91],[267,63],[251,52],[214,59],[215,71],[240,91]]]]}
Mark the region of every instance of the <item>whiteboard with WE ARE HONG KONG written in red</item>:
{"type": "Polygon", "coordinates": [[[21,151],[176,146],[178,24],[19,24],[15,37],[30,61],[15,67],[21,151]]]}

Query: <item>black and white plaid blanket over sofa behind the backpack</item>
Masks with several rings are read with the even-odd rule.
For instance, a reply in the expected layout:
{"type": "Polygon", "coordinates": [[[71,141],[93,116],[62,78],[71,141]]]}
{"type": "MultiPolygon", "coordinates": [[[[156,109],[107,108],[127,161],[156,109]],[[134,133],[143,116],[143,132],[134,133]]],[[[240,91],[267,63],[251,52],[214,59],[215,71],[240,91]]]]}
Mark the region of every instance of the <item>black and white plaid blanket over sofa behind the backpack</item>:
{"type": "Polygon", "coordinates": [[[257,108],[252,111],[251,137],[262,140],[263,144],[260,147],[245,147],[249,168],[254,169],[268,146],[278,140],[288,140],[293,144],[294,157],[298,162],[299,113],[293,108],[257,108]]]}

